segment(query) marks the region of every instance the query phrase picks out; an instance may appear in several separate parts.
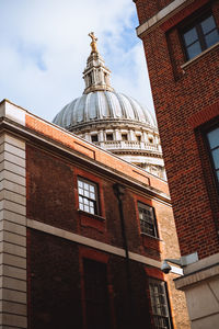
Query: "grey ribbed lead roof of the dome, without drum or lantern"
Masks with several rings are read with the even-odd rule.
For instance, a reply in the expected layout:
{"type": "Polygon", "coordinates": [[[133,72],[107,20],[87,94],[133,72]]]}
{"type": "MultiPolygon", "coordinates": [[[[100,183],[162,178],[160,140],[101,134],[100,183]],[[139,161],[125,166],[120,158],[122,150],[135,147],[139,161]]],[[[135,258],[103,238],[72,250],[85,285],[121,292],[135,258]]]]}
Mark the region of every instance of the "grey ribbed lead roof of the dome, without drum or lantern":
{"type": "Polygon", "coordinates": [[[152,115],[139,102],[115,91],[93,91],[67,104],[54,118],[54,123],[71,129],[92,121],[132,121],[155,127],[152,115]]]}

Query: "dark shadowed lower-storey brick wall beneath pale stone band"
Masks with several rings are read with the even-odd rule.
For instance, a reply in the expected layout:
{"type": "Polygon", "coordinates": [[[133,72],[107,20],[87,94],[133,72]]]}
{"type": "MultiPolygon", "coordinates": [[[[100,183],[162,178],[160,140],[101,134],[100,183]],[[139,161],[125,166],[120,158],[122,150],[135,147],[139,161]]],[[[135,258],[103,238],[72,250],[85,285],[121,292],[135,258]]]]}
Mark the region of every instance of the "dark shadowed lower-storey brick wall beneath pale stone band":
{"type": "MultiPolygon", "coordinates": [[[[81,252],[74,243],[34,230],[28,230],[27,236],[30,329],[85,328],[83,258],[106,262],[108,293],[113,298],[111,319],[116,328],[132,328],[124,259],[105,258],[88,248],[81,252]]],[[[142,264],[131,263],[131,279],[135,324],[141,328],[150,324],[142,264]]]]}

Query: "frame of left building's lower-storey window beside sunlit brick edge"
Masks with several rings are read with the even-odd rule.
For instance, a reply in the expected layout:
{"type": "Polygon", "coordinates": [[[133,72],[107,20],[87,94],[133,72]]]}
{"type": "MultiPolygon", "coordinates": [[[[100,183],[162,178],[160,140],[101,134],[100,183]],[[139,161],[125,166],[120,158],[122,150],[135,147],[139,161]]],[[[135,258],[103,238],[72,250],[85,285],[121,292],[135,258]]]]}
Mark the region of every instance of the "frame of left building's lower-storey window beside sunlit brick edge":
{"type": "MultiPolygon", "coordinates": [[[[148,290],[149,290],[149,295],[150,295],[150,303],[151,303],[151,317],[153,319],[153,325],[154,325],[154,328],[159,329],[161,328],[160,326],[157,327],[155,325],[155,318],[165,318],[168,319],[168,325],[169,325],[169,328],[168,329],[172,329],[173,328],[173,324],[172,324],[172,316],[171,316],[171,307],[170,307],[170,298],[169,298],[169,293],[168,293],[168,285],[166,285],[166,282],[165,281],[162,281],[162,280],[159,280],[159,279],[155,279],[155,277],[148,277],[148,290]],[[153,300],[155,299],[155,295],[152,296],[151,294],[151,285],[152,284],[162,284],[162,290],[163,290],[163,294],[160,294],[160,295],[163,295],[164,296],[164,307],[165,307],[165,311],[166,311],[166,316],[163,316],[163,315],[159,315],[159,314],[154,314],[153,311],[153,300]],[[152,298],[153,297],[153,298],[152,298]]],[[[155,305],[157,306],[157,305],[155,305]]],[[[163,327],[163,328],[166,328],[166,327],[163,327]]]]}

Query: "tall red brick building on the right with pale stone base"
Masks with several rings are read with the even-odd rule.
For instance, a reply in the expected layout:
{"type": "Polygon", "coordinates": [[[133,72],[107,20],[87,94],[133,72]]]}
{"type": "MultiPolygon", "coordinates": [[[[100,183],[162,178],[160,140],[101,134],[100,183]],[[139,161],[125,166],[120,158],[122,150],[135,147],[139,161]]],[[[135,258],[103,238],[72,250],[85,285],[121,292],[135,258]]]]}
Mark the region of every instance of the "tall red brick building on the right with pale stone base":
{"type": "MultiPolygon", "coordinates": [[[[219,324],[219,1],[136,0],[193,328],[219,324]]],[[[169,258],[171,254],[169,256],[169,258]]]]}

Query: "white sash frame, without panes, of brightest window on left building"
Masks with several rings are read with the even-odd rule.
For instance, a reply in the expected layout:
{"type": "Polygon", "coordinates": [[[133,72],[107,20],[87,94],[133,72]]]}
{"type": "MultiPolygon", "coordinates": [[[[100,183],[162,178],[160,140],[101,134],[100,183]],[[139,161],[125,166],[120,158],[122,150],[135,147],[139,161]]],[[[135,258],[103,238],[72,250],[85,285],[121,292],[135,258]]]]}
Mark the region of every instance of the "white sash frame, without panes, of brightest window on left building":
{"type": "MultiPolygon", "coordinates": [[[[100,201],[99,201],[99,195],[100,195],[100,194],[99,194],[99,185],[97,185],[95,182],[92,182],[92,181],[90,181],[90,180],[88,180],[88,179],[85,179],[85,178],[82,178],[82,177],[78,177],[78,178],[77,178],[77,183],[78,183],[79,211],[84,212],[84,213],[88,213],[88,214],[93,215],[93,216],[100,215],[100,201]],[[89,197],[89,196],[85,196],[85,195],[79,193],[79,189],[82,189],[81,186],[79,186],[79,182],[85,183],[85,184],[88,184],[89,186],[93,186],[93,188],[94,188],[94,193],[93,193],[93,194],[95,195],[95,198],[91,198],[91,197],[89,197]],[[83,209],[80,208],[80,203],[84,205],[84,203],[80,202],[80,196],[81,196],[82,198],[88,200],[89,202],[93,202],[94,213],[89,212],[89,211],[84,211],[84,208],[83,208],[83,209]]],[[[83,190],[84,190],[84,189],[83,189],[83,190]]],[[[85,190],[85,191],[88,191],[88,190],[85,190]]],[[[89,208],[90,208],[90,206],[89,206],[89,208]]]]}

